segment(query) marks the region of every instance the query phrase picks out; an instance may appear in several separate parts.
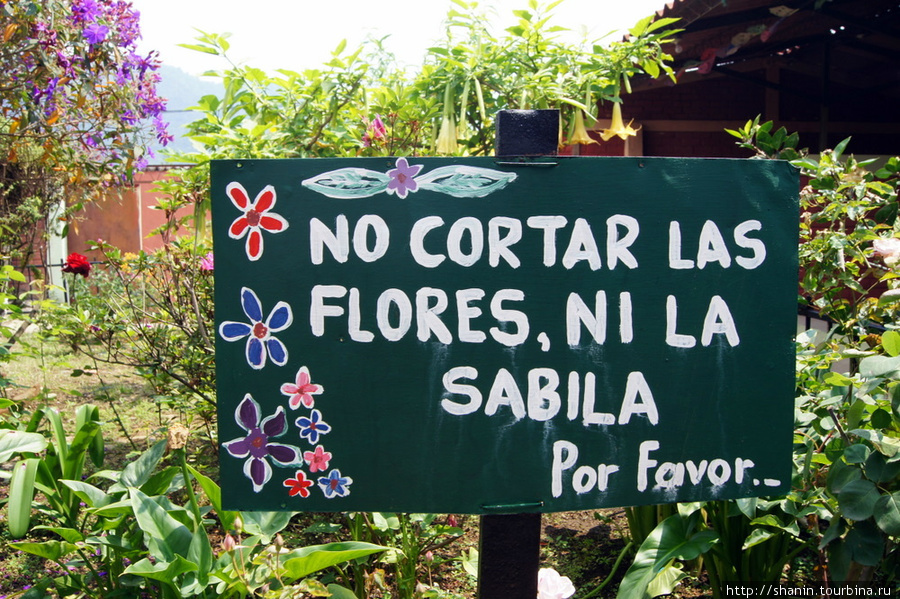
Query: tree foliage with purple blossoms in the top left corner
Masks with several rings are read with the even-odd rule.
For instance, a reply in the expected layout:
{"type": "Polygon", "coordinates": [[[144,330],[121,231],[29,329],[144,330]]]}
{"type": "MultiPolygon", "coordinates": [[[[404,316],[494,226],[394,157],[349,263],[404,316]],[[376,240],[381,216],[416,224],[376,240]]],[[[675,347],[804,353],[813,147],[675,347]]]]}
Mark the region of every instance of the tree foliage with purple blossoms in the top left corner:
{"type": "Polygon", "coordinates": [[[0,2],[5,253],[59,199],[78,205],[129,180],[146,164],[149,135],[171,139],[159,63],[137,53],[139,36],[126,0],[0,2]]]}

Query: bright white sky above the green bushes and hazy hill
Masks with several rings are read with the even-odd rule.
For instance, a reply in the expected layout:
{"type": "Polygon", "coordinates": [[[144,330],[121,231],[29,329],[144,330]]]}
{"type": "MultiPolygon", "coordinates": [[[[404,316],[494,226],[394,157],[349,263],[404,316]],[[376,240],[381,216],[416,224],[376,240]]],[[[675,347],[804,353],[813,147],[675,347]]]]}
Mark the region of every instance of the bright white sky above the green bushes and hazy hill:
{"type": "MultiPolygon", "coordinates": [[[[547,2],[542,2],[546,4],[547,2]]],[[[424,51],[443,39],[450,0],[132,0],[141,13],[142,52],[158,50],[165,64],[194,75],[227,67],[221,59],[179,48],[195,29],[231,33],[229,55],[238,63],[301,71],[325,62],[342,39],[350,48],[367,36],[390,37],[388,50],[405,64],[421,64],[424,51]]],[[[665,0],[564,0],[552,23],[575,31],[572,41],[605,37],[654,13],[665,0]]],[[[514,23],[512,10],[528,0],[483,0],[498,29],[514,23]]],[[[617,38],[609,38],[617,39],[617,38]]]]}

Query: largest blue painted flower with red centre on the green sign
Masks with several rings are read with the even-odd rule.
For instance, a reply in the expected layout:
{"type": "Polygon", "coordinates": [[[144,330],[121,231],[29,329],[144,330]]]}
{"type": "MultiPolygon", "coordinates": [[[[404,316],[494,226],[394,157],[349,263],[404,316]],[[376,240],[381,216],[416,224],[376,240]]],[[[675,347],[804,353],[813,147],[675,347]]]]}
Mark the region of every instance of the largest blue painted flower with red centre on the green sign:
{"type": "Polygon", "coordinates": [[[266,357],[278,366],[287,364],[287,348],[272,333],[291,326],[294,315],[286,302],[278,302],[263,322],[262,303],[252,289],[241,288],[241,307],[250,323],[227,320],[219,325],[219,335],[225,341],[237,341],[247,337],[247,363],[260,370],[266,365],[266,357]]]}

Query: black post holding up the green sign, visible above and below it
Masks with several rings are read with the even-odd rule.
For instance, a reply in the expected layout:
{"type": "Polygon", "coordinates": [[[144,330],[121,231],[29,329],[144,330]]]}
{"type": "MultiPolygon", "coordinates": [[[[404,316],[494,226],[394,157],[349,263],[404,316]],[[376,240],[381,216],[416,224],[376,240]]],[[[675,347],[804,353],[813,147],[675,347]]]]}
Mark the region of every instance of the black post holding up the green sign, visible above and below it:
{"type": "MultiPolygon", "coordinates": [[[[496,120],[497,156],[556,154],[558,110],[502,110],[496,120]]],[[[479,599],[535,599],[540,566],[541,514],[481,517],[479,599]]]]}

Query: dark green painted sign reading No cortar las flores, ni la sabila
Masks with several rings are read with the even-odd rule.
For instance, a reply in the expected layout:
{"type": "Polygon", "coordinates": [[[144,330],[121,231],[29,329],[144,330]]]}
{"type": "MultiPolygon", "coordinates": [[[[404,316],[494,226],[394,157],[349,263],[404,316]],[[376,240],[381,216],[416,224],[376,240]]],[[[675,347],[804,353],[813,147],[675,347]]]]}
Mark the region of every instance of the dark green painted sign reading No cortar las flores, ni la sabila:
{"type": "Polygon", "coordinates": [[[786,492],[797,192],[761,160],[213,161],[223,503],[786,492]]]}

